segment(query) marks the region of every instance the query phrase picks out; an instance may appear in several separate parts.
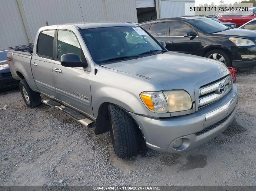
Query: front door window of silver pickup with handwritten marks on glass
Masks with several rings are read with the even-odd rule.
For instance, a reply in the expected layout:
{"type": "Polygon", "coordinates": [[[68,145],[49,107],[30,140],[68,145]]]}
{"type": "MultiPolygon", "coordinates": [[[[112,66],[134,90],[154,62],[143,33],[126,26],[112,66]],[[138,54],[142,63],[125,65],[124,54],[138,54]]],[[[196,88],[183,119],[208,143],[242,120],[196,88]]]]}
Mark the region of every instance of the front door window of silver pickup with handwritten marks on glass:
{"type": "Polygon", "coordinates": [[[81,60],[81,47],[75,34],[67,30],[58,30],[57,58],[61,59],[62,54],[74,53],[81,60]]]}

